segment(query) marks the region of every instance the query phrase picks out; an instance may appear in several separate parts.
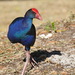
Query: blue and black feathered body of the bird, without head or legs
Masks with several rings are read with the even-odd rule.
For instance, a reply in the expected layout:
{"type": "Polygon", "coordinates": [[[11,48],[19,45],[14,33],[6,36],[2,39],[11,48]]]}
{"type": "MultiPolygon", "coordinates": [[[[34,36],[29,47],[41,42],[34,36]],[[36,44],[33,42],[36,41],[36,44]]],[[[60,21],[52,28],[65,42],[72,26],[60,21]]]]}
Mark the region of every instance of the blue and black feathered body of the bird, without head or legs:
{"type": "MultiPolygon", "coordinates": [[[[32,24],[33,18],[29,15],[16,18],[9,26],[8,38],[12,43],[21,43],[26,46],[26,49],[30,49],[33,46],[36,39],[36,30],[32,24]]],[[[33,16],[34,17],[34,16],[33,16]]]]}

